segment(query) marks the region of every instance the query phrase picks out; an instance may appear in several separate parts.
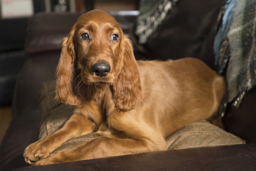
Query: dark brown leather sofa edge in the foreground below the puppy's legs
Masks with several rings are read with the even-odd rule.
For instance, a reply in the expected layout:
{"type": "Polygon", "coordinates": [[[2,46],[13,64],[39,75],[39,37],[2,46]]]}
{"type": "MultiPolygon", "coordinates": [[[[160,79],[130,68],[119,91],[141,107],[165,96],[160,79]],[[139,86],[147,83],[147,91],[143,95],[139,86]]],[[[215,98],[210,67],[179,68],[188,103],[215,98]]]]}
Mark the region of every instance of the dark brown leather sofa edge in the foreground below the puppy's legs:
{"type": "Polygon", "coordinates": [[[53,164],[15,171],[47,170],[255,170],[256,144],[157,151],[53,164]]]}

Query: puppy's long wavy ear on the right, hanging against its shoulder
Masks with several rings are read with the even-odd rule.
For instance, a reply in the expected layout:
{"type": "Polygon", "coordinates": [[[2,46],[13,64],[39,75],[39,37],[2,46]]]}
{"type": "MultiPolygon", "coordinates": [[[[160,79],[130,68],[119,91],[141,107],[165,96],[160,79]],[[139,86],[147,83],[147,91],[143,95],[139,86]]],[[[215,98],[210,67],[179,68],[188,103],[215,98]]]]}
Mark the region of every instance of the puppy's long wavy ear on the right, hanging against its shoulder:
{"type": "Polygon", "coordinates": [[[119,54],[119,75],[113,84],[113,101],[117,111],[128,111],[142,103],[139,71],[128,38],[121,40],[119,54]]]}

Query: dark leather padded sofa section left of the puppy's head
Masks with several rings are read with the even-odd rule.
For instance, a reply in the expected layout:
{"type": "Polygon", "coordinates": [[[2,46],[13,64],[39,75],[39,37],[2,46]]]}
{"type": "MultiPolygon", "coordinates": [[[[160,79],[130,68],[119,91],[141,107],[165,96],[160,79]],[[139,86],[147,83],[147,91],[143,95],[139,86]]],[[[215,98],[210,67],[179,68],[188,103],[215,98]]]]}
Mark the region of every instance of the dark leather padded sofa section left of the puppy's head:
{"type": "Polygon", "coordinates": [[[25,49],[28,54],[60,50],[81,13],[37,13],[29,20],[25,49]]]}

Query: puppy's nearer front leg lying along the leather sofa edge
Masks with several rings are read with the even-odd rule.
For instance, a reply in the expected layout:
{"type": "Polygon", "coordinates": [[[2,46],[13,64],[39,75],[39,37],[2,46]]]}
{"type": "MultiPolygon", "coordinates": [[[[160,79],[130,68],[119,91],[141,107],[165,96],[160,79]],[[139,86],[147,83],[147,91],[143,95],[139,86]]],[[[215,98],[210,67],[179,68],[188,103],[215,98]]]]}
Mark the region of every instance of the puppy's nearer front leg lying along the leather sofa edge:
{"type": "MultiPolygon", "coordinates": [[[[166,147],[165,142],[163,145],[166,147]]],[[[149,147],[149,144],[144,140],[98,137],[88,143],[78,146],[77,148],[56,151],[55,153],[40,159],[38,162],[35,162],[35,165],[57,164],[109,156],[145,153],[157,150],[165,149],[149,147]]]]}

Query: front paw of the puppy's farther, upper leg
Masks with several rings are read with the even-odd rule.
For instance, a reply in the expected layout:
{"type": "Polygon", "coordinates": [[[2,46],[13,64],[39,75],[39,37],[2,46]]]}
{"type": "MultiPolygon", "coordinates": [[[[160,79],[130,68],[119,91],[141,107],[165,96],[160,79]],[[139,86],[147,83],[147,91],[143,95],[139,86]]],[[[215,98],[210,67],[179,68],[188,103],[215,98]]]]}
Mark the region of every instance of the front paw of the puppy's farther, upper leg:
{"type": "Polygon", "coordinates": [[[40,158],[51,153],[52,149],[50,146],[45,139],[30,144],[23,153],[25,161],[29,164],[39,161],[40,158]]]}

